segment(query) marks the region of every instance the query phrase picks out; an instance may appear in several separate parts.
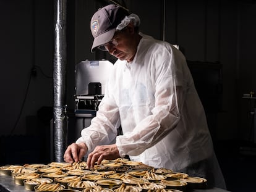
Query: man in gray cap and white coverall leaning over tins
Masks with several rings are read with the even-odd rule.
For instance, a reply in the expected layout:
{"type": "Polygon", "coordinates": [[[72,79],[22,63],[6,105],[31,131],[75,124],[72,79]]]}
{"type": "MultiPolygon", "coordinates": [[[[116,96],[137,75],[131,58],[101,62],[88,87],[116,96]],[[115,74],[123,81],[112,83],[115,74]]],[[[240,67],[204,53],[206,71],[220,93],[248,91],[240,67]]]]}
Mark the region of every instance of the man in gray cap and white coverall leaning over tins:
{"type": "Polygon", "coordinates": [[[226,188],[213,151],[202,103],[182,52],[139,32],[140,19],[116,5],[91,20],[92,51],[117,57],[91,125],[64,159],[87,165],[128,155],[153,167],[207,178],[226,188]],[[124,135],[117,136],[121,125],[124,135]],[[115,144],[109,144],[116,139],[115,144]]]}

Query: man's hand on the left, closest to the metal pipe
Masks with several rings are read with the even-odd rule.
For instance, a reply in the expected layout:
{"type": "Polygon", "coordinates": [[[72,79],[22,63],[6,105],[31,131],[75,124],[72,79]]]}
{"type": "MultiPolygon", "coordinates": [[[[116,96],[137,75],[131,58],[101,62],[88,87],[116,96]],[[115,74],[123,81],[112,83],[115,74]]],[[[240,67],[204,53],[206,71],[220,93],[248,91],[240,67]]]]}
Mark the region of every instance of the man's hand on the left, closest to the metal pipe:
{"type": "Polygon", "coordinates": [[[70,164],[73,162],[82,161],[82,158],[87,153],[87,150],[88,148],[85,143],[72,143],[67,147],[64,153],[64,161],[70,164]]]}

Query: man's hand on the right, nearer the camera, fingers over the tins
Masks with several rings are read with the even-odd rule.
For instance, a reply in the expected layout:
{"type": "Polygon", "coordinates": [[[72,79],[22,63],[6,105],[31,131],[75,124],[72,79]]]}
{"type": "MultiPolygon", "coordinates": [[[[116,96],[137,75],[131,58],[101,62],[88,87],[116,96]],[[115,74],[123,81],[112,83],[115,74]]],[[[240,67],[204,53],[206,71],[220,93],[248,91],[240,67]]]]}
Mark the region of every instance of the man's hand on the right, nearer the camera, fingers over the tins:
{"type": "Polygon", "coordinates": [[[93,152],[88,155],[87,168],[93,169],[95,162],[100,165],[103,159],[113,160],[119,157],[119,151],[116,144],[96,146],[93,152]]]}

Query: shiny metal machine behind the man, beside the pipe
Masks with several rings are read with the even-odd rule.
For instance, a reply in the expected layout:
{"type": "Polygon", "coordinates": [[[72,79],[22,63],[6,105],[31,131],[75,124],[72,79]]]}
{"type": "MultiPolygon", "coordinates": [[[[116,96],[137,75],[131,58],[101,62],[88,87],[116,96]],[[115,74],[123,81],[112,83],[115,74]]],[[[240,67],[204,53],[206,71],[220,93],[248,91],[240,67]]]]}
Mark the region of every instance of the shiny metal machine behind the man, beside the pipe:
{"type": "Polygon", "coordinates": [[[82,61],[75,66],[75,115],[94,117],[105,93],[113,64],[109,61],[82,61]]]}

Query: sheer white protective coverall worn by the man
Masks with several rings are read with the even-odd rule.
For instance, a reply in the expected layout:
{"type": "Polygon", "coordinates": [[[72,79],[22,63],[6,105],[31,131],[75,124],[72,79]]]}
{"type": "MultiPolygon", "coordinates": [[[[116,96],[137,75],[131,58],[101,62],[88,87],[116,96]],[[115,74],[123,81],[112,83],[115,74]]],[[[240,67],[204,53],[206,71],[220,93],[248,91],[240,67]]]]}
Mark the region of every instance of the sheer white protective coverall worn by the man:
{"type": "Polygon", "coordinates": [[[76,143],[92,152],[116,139],[121,157],[207,178],[225,189],[185,57],[169,43],[140,35],[134,60],[116,61],[96,117],[76,143]],[[124,135],[116,136],[120,123],[124,135]]]}

